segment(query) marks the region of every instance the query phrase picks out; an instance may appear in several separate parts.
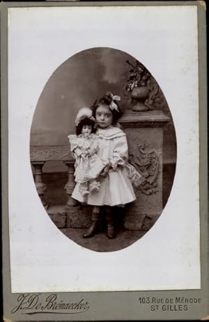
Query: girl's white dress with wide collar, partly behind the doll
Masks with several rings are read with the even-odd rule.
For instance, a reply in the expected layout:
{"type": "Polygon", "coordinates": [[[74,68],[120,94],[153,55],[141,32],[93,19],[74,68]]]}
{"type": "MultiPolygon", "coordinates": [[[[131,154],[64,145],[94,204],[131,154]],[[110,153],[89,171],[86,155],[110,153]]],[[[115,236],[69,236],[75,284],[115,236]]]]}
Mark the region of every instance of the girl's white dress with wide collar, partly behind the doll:
{"type": "Polygon", "coordinates": [[[90,192],[82,197],[77,186],[72,198],[92,206],[123,206],[136,199],[132,181],[139,182],[141,175],[127,162],[128,147],[125,132],[120,128],[98,128],[98,155],[104,164],[111,168],[106,177],[100,176],[100,191],[90,192]],[[131,181],[132,180],[132,181],[131,181]]]}

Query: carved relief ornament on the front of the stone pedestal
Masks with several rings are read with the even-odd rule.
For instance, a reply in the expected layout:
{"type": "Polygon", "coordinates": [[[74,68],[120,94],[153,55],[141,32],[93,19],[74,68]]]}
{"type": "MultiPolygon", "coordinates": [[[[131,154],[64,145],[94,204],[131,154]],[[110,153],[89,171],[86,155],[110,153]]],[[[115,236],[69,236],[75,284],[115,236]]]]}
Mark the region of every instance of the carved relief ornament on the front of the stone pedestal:
{"type": "Polygon", "coordinates": [[[144,182],[139,189],[144,194],[153,194],[157,189],[157,174],[159,170],[159,159],[154,149],[145,151],[144,145],[137,144],[138,151],[136,155],[130,155],[130,163],[137,168],[144,182]]]}

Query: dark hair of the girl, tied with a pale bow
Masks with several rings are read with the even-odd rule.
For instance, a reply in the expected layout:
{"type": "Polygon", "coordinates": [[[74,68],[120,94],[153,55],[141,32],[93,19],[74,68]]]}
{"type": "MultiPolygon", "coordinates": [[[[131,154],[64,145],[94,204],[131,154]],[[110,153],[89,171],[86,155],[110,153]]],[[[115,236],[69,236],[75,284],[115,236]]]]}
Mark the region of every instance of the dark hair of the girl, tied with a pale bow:
{"type": "MultiPolygon", "coordinates": [[[[100,100],[95,100],[95,102],[93,103],[93,106],[91,107],[93,117],[95,118],[96,110],[98,109],[98,107],[100,105],[107,105],[107,107],[109,107],[111,101],[112,101],[111,96],[107,95],[107,94],[102,96],[102,98],[100,98],[100,100]]],[[[118,103],[116,102],[116,100],[114,100],[114,103],[117,105],[119,112],[116,111],[116,109],[109,108],[112,113],[112,124],[113,125],[115,125],[117,123],[118,119],[121,118],[121,116],[123,115],[123,112],[121,111],[120,107],[118,106],[118,103]]]]}

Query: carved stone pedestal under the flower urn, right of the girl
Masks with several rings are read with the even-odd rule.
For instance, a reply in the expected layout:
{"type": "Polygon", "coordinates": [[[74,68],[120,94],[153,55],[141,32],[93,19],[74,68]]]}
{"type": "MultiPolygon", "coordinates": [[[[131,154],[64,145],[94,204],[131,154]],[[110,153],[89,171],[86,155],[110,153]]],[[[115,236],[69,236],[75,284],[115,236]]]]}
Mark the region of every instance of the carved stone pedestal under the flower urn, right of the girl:
{"type": "Polygon", "coordinates": [[[137,200],[126,206],[126,229],[143,229],[146,217],[151,223],[162,213],[163,126],[168,121],[169,117],[161,111],[130,111],[120,120],[127,134],[130,163],[145,179],[135,189],[137,200]]]}

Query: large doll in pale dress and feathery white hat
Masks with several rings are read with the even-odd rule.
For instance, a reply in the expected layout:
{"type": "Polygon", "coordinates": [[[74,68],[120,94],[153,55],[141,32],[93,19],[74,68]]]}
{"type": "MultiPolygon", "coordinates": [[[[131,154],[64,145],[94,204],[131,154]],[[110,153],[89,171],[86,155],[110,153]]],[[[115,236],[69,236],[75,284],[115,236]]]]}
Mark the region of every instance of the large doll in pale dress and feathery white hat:
{"type": "Polygon", "coordinates": [[[68,135],[70,151],[75,158],[75,190],[72,198],[85,201],[89,192],[100,190],[100,183],[95,180],[105,164],[97,155],[98,136],[95,132],[95,118],[88,107],[83,107],[75,119],[76,135],[68,135]]]}

